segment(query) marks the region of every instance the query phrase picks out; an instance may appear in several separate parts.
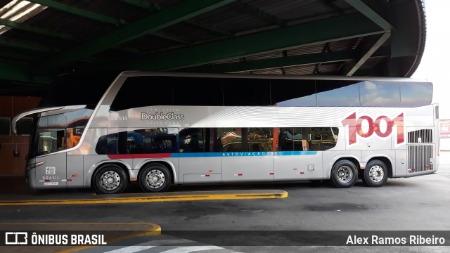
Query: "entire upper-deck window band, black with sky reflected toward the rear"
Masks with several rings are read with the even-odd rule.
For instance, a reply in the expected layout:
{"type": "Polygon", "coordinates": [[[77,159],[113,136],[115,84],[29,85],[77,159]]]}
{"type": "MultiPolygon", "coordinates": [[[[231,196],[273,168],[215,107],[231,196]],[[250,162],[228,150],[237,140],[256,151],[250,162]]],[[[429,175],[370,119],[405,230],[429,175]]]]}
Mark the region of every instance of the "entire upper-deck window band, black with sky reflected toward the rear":
{"type": "Polygon", "coordinates": [[[432,84],[398,81],[230,77],[129,77],[110,110],[153,105],[373,106],[429,105],[432,84]]]}

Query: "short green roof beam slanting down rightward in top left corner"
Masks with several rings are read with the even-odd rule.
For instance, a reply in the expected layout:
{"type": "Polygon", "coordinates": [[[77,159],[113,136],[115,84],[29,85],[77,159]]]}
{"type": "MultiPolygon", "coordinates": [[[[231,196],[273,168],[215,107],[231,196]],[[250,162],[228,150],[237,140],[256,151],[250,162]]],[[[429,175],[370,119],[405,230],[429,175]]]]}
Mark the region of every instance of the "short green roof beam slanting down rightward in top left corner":
{"type": "Polygon", "coordinates": [[[92,20],[97,20],[100,22],[106,22],[106,23],[110,23],[113,25],[123,25],[125,23],[125,20],[119,19],[119,18],[112,18],[112,17],[108,17],[106,15],[101,15],[98,13],[94,13],[92,11],[86,11],[82,8],[77,8],[74,6],[70,6],[67,4],[61,4],[60,2],[57,1],[52,1],[52,0],[27,0],[30,2],[33,2],[35,4],[40,4],[43,6],[48,6],[50,8],[54,8],[58,11],[64,11],[66,13],[71,13],[73,15],[78,15],[84,18],[89,18],[92,20]]]}

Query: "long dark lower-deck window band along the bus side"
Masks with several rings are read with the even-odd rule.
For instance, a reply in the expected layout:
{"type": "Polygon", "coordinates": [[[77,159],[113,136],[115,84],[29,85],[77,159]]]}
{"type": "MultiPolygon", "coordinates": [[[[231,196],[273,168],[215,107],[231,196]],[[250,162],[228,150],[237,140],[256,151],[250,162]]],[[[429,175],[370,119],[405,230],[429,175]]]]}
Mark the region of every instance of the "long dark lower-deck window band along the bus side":
{"type": "Polygon", "coordinates": [[[136,129],[101,136],[99,155],[321,151],[334,148],[337,127],[136,129]]]}

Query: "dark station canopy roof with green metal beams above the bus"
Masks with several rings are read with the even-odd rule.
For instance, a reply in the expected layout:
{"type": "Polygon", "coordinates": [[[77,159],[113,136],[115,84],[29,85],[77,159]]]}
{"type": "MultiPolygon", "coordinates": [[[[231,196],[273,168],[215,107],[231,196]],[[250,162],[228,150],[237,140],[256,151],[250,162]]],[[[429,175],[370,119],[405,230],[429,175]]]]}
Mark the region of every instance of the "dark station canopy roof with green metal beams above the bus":
{"type": "Polygon", "coordinates": [[[424,47],[422,0],[0,0],[0,96],[105,69],[411,77],[424,47]]]}

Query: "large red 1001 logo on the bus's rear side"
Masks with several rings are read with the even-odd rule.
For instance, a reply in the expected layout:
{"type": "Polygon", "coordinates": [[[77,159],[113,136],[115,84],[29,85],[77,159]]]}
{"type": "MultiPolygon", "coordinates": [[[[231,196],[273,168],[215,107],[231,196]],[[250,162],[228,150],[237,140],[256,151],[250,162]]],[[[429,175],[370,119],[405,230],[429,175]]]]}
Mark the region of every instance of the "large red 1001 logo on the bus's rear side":
{"type": "Polygon", "coordinates": [[[392,134],[392,129],[397,131],[397,145],[404,143],[404,125],[403,125],[403,113],[400,113],[394,119],[390,119],[387,116],[380,116],[373,120],[367,115],[363,115],[356,119],[356,112],[353,112],[349,117],[342,120],[342,125],[349,126],[349,145],[353,145],[357,142],[357,136],[361,138],[370,138],[375,134],[380,138],[387,138],[392,134]],[[368,127],[365,127],[363,131],[363,122],[366,121],[368,127]],[[382,122],[385,122],[385,127],[380,127],[382,122]],[[395,127],[394,127],[395,126],[395,127]]]}

